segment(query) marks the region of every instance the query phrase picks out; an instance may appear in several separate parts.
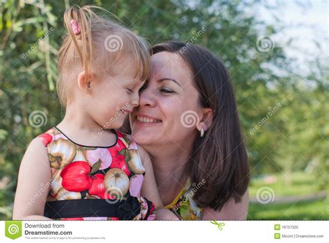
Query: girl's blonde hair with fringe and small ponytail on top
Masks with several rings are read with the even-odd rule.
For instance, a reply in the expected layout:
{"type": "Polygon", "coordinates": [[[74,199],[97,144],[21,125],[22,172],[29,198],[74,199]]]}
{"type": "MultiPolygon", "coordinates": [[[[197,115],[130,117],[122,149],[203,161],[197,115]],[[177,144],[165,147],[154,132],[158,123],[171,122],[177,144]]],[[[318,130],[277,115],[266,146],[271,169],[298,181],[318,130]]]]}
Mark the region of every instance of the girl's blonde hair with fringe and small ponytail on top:
{"type": "Polygon", "coordinates": [[[81,71],[101,78],[110,74],[115,62],[130,58],[136,66],[135,77],[144,81],[149,76],[150,47],[146,40],[121,24],[96,15],[92,8],[104,10],[96,6],[76,6],[64,14],[68,33],[59,51],[56,84],[62,106],[71,100],[74,81],[81,71]],[[72,19],[79,23],[81,32],[78,34],[72,29],[72,19]]]}

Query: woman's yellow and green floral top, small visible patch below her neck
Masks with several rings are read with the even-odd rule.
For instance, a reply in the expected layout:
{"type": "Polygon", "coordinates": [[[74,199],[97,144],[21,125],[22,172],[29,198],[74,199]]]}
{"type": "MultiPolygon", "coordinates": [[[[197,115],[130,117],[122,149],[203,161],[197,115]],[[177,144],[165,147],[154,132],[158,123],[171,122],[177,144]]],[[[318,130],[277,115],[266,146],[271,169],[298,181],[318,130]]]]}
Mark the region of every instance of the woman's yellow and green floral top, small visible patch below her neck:
{"type": "Polygon", "coordinates": [[[201,220],[203,208],[199,208],[193,199],[195,187],[195,183],[187,180],[183,190],[165,208],[174,212],[181,220],[201,220]]]}

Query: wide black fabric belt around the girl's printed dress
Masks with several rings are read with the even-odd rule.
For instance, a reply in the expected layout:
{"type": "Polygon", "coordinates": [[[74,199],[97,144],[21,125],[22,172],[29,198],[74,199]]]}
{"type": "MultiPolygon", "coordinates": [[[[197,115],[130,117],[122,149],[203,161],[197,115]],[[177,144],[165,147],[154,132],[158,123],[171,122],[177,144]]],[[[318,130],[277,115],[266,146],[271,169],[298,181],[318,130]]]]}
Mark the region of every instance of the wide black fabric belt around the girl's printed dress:
{"type": "Polygon", "coordinates": [[[51,219],[76,217],[118,217],[119,206],[125,201],[110,203],[105,199],[73,199],[48,201],[44,216],[51,219]]]}

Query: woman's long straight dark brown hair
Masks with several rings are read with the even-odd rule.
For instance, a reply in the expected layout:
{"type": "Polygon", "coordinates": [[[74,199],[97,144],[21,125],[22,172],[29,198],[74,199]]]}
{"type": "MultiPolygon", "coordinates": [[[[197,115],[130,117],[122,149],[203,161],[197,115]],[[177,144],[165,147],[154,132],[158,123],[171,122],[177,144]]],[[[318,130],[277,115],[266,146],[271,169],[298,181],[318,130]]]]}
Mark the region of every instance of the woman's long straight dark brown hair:
{"type": "Polygon", "coordinates": [[[205,181],[195,190],[194,201],[214,210],[221,210],[230,199],[238,203],[248,187],[249,166],[228,70],[219,58],[196,44],[166,42],[152,51],[182,57],[192,70],[200,105],[213,110],[212,124],[203,137],[196,136],[187,162],[192,185],[205,181]]]}

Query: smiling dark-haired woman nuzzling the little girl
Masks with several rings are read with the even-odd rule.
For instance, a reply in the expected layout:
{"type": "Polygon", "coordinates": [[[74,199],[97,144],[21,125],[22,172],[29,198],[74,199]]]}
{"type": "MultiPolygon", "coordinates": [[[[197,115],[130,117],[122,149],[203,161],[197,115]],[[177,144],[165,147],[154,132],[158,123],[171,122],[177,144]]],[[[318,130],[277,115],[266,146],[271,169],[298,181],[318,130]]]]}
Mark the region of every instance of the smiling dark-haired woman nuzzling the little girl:
{"type": "Polygon", "coordinates": [[[151,156],[162,202],[180,219],[246,219],[248,159],[226,68],[194,44],[152,51],[130,128],[151,156]]]}

